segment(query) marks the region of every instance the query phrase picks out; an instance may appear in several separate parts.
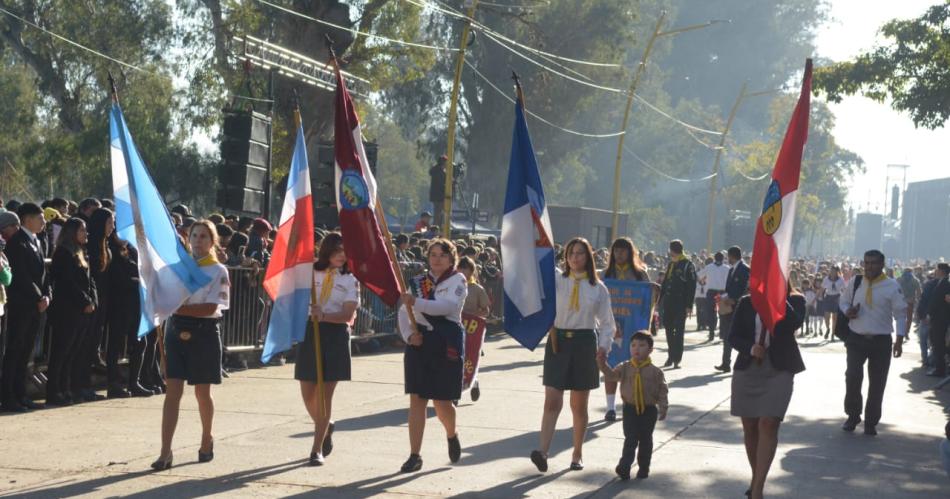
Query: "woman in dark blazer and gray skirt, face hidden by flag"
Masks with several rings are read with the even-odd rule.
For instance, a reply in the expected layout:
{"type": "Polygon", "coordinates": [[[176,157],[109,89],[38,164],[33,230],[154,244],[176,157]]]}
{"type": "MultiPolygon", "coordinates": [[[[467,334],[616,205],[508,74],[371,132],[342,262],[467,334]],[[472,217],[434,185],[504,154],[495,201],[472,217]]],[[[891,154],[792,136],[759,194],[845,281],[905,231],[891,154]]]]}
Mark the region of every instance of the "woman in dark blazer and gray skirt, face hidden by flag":
{"type": "Polygon", "coordinates": [[[732,415],[742,418],[752,483],[746,494],[761,498],[765,478],[778,446],[778,428],[785,418],[796,374],[805,370],[795,331],[805,320],[805,297],[789,288],[785,318],[769,334],[743,296],[736,306],[729,339],[739,353],[733,367],[732,415]]]}

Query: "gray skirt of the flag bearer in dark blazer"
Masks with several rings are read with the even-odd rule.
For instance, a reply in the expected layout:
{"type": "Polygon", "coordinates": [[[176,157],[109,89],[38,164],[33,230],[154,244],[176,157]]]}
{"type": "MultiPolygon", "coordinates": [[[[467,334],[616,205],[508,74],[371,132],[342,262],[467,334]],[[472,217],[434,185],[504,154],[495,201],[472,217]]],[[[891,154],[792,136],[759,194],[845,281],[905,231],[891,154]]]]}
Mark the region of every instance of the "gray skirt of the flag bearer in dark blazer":
{"type": "Polygon", "coordinates": [[[743,418],[784,419],[794,381],[794,374],[772,367],[768,355],[761,364],[753,360],[748,369],[732,374],[730,412],[743,418]]]}

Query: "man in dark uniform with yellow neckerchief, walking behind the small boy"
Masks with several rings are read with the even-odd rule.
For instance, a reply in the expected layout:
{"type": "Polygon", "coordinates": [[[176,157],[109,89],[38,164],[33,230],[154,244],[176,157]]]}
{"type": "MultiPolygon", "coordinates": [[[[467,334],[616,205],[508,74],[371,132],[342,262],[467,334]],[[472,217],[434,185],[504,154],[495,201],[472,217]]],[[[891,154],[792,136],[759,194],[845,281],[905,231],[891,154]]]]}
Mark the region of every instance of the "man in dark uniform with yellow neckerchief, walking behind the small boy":
{"type": "Polygon", "coordinates": [[[679,367],[683,361],[683,333],[686,315],[696,294],[696,268],[683,254],[683,242],[670,241],[670,263],[663,277],[660,299],[663,301],[663,328],[669,357],[663,367],[679,367]]]}

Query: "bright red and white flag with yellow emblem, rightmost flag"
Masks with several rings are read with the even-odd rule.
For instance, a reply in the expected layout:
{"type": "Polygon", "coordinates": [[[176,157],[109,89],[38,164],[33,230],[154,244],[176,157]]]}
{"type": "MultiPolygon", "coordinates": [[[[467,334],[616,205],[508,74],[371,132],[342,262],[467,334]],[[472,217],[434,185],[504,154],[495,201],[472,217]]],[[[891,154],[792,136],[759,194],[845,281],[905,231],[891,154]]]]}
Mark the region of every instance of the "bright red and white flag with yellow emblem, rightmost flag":
{"type": "Polygon", "coordinates": [[[802,171],[802,152],[808,140],[810,105],[811,59],[808,59],[801,95],[772,170],[772,183],[765,193],[752,249],[749,295],[763,326],[773,334],[775,324],[785,318],[795,202],[802,171]]]}

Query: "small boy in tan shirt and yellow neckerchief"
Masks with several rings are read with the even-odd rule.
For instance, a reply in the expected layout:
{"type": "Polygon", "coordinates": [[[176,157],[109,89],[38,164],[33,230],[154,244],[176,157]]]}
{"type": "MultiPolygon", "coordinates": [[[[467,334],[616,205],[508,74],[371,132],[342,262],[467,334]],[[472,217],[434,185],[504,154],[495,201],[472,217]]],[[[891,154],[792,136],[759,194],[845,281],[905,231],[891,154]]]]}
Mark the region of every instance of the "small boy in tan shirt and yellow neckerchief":
{"type": "Polygon", "coordinates": [[[637,478],[650,475],[650,458],[653,455],[653,429],[657,420],[666,419],[669,407],[666,395],[668,388],[663,370],[653,365],[653,337],[647,331],[637,331],[630,340],[630,360],[610,369],[603,355],[597,365],[606,381],[620,382],[623,399],[623,455],[617,463],[617,476],[630,479],[630,467],[634,457],[639,469],[637,478]],[[637,454],[637,446],[640,452],[637,454]]]}

